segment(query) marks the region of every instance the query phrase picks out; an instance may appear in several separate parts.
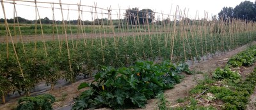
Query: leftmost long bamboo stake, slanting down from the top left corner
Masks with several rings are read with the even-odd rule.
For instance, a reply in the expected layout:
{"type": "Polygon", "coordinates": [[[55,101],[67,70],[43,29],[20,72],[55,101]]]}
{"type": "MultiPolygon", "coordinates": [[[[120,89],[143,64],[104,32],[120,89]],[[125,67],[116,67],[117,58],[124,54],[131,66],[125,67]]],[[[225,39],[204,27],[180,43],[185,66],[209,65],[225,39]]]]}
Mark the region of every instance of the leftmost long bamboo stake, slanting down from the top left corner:
{"type": "Polygon", "coordinates": [[[14,45],[14,43],[13,43],[12,34],[11,34],[11,32],[10,32],[8,22],[7,22],[7,20],[6,20],[6,15],[5,15],[5,10],[4,10],[4,3],[3,3],[3,0],[1,0],[1,4],[2,4],[2,9],[3,9],[3,14],[4,14],[4,25],[5,25],[5,27],[6,27],[7,31],[8,31],[8,34],[10,35],[10,38],[11,38],[11,41],[12,41],[12,46],[13,46],[13,51],[14,51],[14,53],[15,53],[16,60],[17,60],[17,62],[18,62],[18,64],[19,64],[20,73],[21,73],[22,78],[23,78],[24,81],[25,81],[26,79],[24,78],[24,74],[23,74],[23,71],[22,71],[22,67],[21,67],[21,65],[20,65],[19,57],[18,57],[18,55],[17,55],[16,48],[15,48],[15,45],[14,45]]]}

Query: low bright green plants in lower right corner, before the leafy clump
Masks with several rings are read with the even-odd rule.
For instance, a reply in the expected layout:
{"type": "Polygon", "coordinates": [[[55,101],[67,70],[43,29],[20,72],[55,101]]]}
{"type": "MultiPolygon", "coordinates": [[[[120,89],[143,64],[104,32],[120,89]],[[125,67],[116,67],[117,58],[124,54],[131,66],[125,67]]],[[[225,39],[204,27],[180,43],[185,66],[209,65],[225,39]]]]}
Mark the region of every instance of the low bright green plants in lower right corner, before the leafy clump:
{"type": "MultiPolygon", "coordinates": [[[[253,93],[255,85],[256,70],[243,82],[233,83],[230,81],[227,83],[227,86],[214,86],[212,83],[205,83],[205,81],[203,81],[195,86],[189,93],[191,93],[191,95],[197,95],[198,93],[202,93],[204,90],[209,89],[207,92],[213,93],[217,100],[224,102],[222,109],[246,109],[248,97],[253,93]]],[[[200,107],[193,97],[190,99],[190,102],[191,106],[186,106],[186,109],[196,109],[200,107]]],[[[206,107],[202,108],[207,109],[206,107]]]]}

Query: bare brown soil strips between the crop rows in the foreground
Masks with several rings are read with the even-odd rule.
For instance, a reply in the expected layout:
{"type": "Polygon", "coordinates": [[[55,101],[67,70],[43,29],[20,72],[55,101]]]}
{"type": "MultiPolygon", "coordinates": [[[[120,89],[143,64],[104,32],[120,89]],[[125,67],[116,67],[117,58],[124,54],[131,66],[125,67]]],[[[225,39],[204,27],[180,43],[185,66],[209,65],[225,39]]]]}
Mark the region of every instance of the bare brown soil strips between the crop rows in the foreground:
{"type": "MultiPolygon", "coordinates": [[[[256,44],[256,42],[253,42],[253,44],[256,44]]],[[[198,84],[199,80],[204,79],[204,75],[209,75],[211,76],[212,72],[217,68],[217,67],[224,67],[225,64],[227,64],[228,58],[232,57],[232,55],[236,55],[237,53],[243,51],[246,49],[248,45],[241,46],[237,48],[236,50],[232,50],[230,52],[223,53],[221,55],[216,55],[215,57],[209,58],[207,60],[201,61],[200,63],[196,63],[193,65],[190,65],[190,69],[193,71],[200,71],[204,72],[204,74],[195,74],[195,75],[185,75],[185,78],[183,81],[177,85],[174,86],[173,89],[166,90],[164,92],[164,95],[166,96],[166,100],[170,102],[169,106],[179,106],[179,103],[177,103],[177,99],[184,99],[186,96],[188,96],[189,90],[196,86],[198,84]]],[[[239,71],[243,71],[242,76],[246,76],[250,71],[253,70],[253,65],[251,68],[242,68],[239,69],[239,71]]],[[[92,80],[88,80],[90,82],[92,80]]],[[[45,93],[51,93],[56,97],[57,102],[53,104],[54,109],[63,107],[63,106],[70,106],[73,103],[74,97],[77,97],[83,90],[77,90],[77,86],[82,81],[77,81],[76,83],[72,83],[67,86],[63,86],[60,88],[56,88],[55,90],[52,91],[47,91],[45,93]]],[[[252,95],[250,98],[252,101],[250,102],[248,109],[249,108],[256,108],[255,107],[255,102],[256,102],[256,93],[252,95]],[[254,101],[254,102],[253,102],[254,101]]],[[[8,110],[12,109],[17,105],[17,99],[13,99],[9,102],[7,102],[4,105],[0,106],[1,110],[8,110]]],[[[101,108],[100,110],[103,109],[109,109],[109,108],[101,108]]],[[[150,99],[148,100],[148,104],[146,104],[145,108],[142,109],[157,109],[157,99],[150,99]]]]}

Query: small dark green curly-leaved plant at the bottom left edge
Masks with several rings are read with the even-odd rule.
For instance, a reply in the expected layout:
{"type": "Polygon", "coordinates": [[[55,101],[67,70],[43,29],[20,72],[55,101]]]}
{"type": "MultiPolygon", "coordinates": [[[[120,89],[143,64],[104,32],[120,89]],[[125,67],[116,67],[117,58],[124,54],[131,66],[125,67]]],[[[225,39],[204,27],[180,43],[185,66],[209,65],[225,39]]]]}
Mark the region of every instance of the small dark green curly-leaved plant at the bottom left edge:
{"type": "Polygon", "coordinates": [[[50,94],[35,97],[22,97],[18,100],[17,110],[51,110],[55,98],[50,94]]]}

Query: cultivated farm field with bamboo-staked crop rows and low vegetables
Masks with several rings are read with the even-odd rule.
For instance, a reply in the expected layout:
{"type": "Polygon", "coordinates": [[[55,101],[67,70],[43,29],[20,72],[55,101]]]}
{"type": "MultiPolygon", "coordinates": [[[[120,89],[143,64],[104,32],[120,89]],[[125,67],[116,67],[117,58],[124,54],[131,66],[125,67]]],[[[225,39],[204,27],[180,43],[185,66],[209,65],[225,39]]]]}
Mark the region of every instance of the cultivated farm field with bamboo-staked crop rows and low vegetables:
{"type": "Polygon", "coordinates": [[[255,21],[59,2],[1,1],[14,6],[0,19],[1,110],[256,108],[255,21]],[[17,16],[23,3],[35,20],[17,16]]]}

